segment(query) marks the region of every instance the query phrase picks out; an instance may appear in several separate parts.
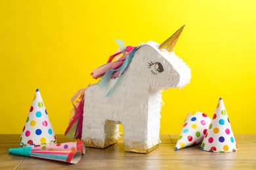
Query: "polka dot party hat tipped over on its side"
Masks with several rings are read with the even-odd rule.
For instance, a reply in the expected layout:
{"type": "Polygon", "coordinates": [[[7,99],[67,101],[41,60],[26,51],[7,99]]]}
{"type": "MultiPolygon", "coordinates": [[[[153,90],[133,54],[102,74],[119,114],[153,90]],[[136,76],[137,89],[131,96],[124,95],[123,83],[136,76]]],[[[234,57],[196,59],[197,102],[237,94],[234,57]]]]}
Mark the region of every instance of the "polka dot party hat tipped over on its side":
{"type": "Polygon", "coordinates": [[[190,112],[187,114],[175,150],[202,143],[210,123],[211,118],[203,112],[190,112]]]}

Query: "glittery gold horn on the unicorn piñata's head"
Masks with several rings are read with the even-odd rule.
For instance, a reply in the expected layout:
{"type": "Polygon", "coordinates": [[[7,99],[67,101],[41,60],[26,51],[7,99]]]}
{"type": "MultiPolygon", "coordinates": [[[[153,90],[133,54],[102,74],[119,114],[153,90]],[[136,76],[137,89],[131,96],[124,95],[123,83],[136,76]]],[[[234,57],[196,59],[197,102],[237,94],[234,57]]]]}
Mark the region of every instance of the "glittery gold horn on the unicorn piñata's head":
{"type": "Polygon", "coordinates": [[[178,41],[178,39],[181,35],[181,32],[182,32],[184,26],[185,25],[183,25],[178,31],[176,31],[173,35],[171,35],[171,37],[169,37],[169,39],[167,39],[163,43],[161,43],[159,46],[159,49],[164,48],[164,49],[168,50],[169,52],[172,52],[176,42],[178,41]]]}

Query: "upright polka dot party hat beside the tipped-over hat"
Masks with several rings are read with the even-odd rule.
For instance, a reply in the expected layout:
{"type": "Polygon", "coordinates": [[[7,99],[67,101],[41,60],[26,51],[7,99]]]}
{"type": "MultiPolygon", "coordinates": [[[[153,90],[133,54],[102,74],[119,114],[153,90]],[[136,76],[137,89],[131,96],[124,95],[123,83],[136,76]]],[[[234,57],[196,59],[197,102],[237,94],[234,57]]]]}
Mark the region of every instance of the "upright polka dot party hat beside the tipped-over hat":
{"type": "Polygon", "coordinates": [[[219,99],[201,149],[221,153],[238,150],[222,98],[219,99]]]}

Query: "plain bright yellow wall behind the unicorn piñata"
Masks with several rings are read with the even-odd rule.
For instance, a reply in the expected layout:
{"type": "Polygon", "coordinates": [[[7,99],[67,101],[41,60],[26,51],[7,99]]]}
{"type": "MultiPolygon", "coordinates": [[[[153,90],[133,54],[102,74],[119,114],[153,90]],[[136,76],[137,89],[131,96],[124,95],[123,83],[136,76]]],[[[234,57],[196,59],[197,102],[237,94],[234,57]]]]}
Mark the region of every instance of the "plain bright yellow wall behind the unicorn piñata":
{"type": "Polygon", "coordinates": [[[127,45],[163,42],[186,24],[175,52],[192,69],[163,93],[161,133],[188,112],[213,116],[223,97],[235,134],[256,133],[255,1],[0,1],[0,133],[21,133],[39,88],[55,133],[90,73],[127,45]]]}

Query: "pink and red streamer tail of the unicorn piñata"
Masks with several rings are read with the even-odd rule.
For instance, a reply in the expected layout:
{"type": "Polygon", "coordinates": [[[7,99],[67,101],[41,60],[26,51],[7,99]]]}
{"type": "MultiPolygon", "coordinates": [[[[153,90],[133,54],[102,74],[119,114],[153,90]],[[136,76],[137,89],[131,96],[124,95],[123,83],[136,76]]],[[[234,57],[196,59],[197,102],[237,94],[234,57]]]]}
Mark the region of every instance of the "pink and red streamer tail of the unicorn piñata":
{"type": "Polygon", "coordinates": [[[81,136],[82,136],[83,105],[85,101],[84,92],[85,92],[85,89],[79,90],[77,93],[75,93],[74,97],[72,97],[71,99],[74,109],[70,111],[70,122],[69,122],[68,128],[65,131],[65,136],[70,139],[71,138],[81,139],[81,136]],[[79,98],[77,99],[77,97],[79,98]]]}

